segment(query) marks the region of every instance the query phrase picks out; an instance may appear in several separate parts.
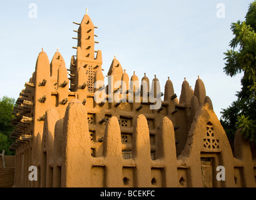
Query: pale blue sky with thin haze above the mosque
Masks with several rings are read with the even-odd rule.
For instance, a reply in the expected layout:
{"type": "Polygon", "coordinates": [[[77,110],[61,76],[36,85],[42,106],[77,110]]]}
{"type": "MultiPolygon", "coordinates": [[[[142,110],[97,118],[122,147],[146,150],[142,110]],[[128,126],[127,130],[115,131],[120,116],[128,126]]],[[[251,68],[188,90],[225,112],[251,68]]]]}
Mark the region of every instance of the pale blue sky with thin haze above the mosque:
{"type": "Polygon", "coordinates": [[[81,22],[88,8],[99,27],[95,49],[103,53],[104,73],[116,54],[129,76],[136,71],[139,79],[146,73],[151,80],[156,74],[162,88],[170,76],[178,96],[184,78],[194,88],[199,75],[220,118],[221,109],[236,99],[241,88],[241,75],[230,78],[223,73],[223,52],[233,38],[230,24],[244,20],[252,1],[1,0],[0,98],[18,98],[34,72],[41,47],[50,61],[59,47],[69,68],[76,54],[72,49],[76,40],[71,37],[78,29],[72,22],[81,22]],[[29,17],[31,3],[37,5],[37,18],[29,17]],[[219,3],[225,6],[225,18],[217,17],[219,3]]]}

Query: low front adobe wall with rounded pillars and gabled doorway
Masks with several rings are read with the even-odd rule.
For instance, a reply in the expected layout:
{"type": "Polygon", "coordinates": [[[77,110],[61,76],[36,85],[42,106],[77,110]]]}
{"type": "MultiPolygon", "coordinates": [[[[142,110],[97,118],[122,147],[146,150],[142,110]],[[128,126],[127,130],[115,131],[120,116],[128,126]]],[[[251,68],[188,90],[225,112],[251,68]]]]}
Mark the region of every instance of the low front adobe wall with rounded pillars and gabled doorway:
{"type": "MultiPolygon", "coordinates": [[[[131,158],[122,156],[120,124],[115,116],[105,129],[103,154],[95,158],[91,155],[86,109],[73,100],[64,119],[56,121],[52,114],[46,115],[47,121],[56,121],[55,125],[46,124],[43,133],[54,128],[53,163],[47,163],[52,148],[46,148],[47,157],[39,160],[39,180],[34,182],[38,187],[255,187],[256,162],[250,144],[237,133],[234,157],[227,136],[209,107],[206,103],[198,110],[178,158],[173,124],[166,117],[158,129],[157,143],[161,148],[151,158],[148,123],[142,114],[133,128],[131,158]],[[58,149],[62,149],[61,154],[58,149]],[[225,181],[216,179],[218,166],[225,168],[225,181]]],[[[42,147],[49,144],[52,138],[45,138],[42,147]]],[[[36,157],[40,158],[42,153],[38,154],[36,157]]],[[[28,181],[22,177],[16,186],[23,185],[20,181],[28,181]]]]}

